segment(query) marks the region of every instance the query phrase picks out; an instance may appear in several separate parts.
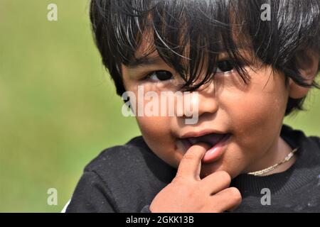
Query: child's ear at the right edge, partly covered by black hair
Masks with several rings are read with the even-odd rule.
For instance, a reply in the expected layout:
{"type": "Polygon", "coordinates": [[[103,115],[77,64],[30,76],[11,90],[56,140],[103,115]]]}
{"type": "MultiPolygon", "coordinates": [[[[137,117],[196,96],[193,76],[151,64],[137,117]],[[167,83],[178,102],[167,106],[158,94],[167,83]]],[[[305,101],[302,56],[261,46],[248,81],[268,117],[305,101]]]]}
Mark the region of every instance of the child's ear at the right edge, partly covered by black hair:
{"type": "MultiPolygon", "coordinates": [[[[305,82],[311,84],[319,70],[319,53],[311,50],[299,50],[296,55],[296,64],[300,74],[306,79],[305,82]]],[[[295,84],[294,81],[289,78],[289,96],[292,99],[303,98],[309,92],[309,89],[308,87],[301,87],[295,84]]]]}

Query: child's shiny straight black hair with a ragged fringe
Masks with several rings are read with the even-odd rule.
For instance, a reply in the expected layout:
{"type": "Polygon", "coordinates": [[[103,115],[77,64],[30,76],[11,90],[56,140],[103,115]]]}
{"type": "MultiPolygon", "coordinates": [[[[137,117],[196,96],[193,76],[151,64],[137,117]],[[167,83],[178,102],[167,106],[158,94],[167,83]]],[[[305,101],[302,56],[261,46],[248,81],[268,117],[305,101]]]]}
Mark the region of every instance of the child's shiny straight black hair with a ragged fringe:
{"type": "MultiPolygon", "coordinates": [[[[283,72],[286,86],[291,78],[302,87],[320,89],[315,80],[304,81],[297,64],[307,50],[320,53],[319,0],[92,0],[90,20],[120,96],[125,92],[121,65],[135,60],[147,31],[153,34],[154,48],[146,55],[156,51],[174,68],[185,82],[181,89],[192,91],[210,82],[221,51],[228,52],[247,84],[250,77],[242,66],[250,62],[239,48],[250,48],[260,62],[283,72]],[[262,4],[270,6],[270,21],[261,18],[262,4]],[[195,84],[204,57],[206,74],[195,84]]],[[[289,98],[285,116],[304,110],[305,98],[289,98]]]]}

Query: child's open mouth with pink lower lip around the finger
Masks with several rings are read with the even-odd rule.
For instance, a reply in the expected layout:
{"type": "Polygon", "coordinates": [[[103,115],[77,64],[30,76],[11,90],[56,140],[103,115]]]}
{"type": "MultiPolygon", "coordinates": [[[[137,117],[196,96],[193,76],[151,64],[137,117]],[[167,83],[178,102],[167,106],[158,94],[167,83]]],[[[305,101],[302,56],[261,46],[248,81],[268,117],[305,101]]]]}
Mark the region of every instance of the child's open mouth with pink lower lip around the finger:
{"type": "Polygon", "coordinates": [[[231,133],[210,133],[198,137],[181,138],[181,142],[186,150],[196,143],[206,143],[210,146],[203,156],[203,163],[210,163],[218,160],[223,155],[223,147],[231,137],[231,133]]]}

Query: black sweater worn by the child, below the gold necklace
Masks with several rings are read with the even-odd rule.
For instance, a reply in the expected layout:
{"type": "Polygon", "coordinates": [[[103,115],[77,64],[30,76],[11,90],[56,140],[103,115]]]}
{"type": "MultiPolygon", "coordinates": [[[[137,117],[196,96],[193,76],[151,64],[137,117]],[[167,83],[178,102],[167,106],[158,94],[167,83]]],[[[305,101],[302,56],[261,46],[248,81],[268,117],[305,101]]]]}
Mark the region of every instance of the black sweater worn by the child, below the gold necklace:
{"type": "MultiPolygon", "coordinates": [[[[242,174],[231,186],[242,194],[235,212],[320,212],[320,138],[283,125],[281,137],[297,148],[285,172],[257,177],[242,174]],[[270,205],[261,193],[270,189],[270,205]],[[265,201],[265,200],[264,200],[265,201]]],[[[142,136],[104,150],[83,172],[66,212],[149,212],[149,204],[176,175],[142,136]]]]}

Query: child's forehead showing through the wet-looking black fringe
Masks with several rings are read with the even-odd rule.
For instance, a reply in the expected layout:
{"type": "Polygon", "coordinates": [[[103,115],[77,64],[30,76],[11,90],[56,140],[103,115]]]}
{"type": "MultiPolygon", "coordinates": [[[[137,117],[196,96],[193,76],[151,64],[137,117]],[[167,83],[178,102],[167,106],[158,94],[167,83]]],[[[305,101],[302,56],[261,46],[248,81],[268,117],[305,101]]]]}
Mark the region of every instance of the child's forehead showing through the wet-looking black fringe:
{"type": "MultiPolygon", "coordinates": [[[[170,33],[166,32],[166,30],[171,29],[171,24],[166,23],[164,18],[162,18],[158,26],[154,26],[154,18],[152,18],[151,14],[146,16],[144,20],[144,30],[136,34],[137,48],[135,49],[134,57],[137,58],[159,56],[160,49],[181,57],[183,61],[190,60],[190,55],[199,56],[202,54],[205,56],[209,52],[218,55],[221,52],[230,52],[230,49],[247,51],[253,49],[250,38],[240,26],[227,26],[230,29],[228,34],[230,37],[228,37],[217,26],[212,26],[212,28],[208,29],[208,24],[203,24],[204,29],[200,29],[197,34],[198,29],[192,26],[192,21],[188,21],[188,23],[183,23],[183,26],[177,27],[175,31],[170,33]],[[231,46],[230,41],[232,43],[231,46]]],[[[201,27],[201,25],[198,26],[201,27]]]]}

